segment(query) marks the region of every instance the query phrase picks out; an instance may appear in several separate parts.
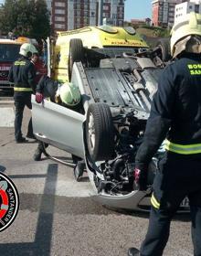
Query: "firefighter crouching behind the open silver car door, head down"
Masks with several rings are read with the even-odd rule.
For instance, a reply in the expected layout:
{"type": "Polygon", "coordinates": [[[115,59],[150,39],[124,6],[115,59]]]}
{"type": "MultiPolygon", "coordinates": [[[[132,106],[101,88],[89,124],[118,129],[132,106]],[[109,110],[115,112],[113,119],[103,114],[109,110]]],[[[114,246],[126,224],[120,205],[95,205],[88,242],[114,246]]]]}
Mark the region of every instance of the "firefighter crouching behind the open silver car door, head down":
{"type": "MultiPolygon", "coordinates": [[[[49,98],[50,101],[80,112],[80,92],[78,87],[71,82],[60,84],[58,81],[52,80],[48,76],[43,76],[37,84],[37,103],[41,103],[44,98],[49,98]]],[[[45,144],[45,146],[47,147],[48,144],[45,144]]],[[[42,153],[43,144],[39,142],[34,155],[34,160],[40,161],[42,153]]],[[[73,158],[76,158],[76,156],[73,155],[73,158]]],[[[81,159],[78,158],[78,160],[81,159]]]]}

